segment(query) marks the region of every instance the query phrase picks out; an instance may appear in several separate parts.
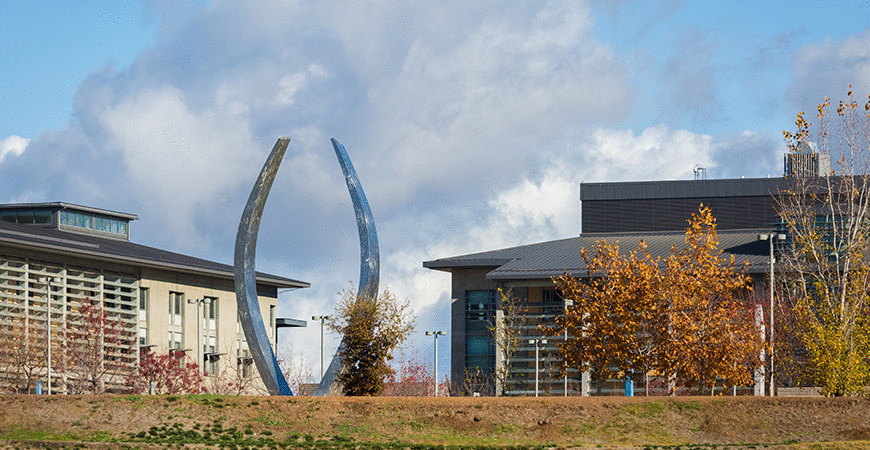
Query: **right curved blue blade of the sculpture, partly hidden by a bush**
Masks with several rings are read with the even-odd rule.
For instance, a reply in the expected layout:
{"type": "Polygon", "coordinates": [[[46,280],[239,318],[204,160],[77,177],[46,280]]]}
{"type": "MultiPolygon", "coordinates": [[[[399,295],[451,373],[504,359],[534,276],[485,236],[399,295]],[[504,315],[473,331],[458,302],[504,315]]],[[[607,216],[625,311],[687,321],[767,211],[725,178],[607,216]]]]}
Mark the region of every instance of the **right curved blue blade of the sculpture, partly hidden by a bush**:
{"type": "MultiPolygon", "coordinates": [[[[378,282],[380,278],[380,253],[378,252],[378,233],[375,230],[375,218],[372,216],[372,210],[369,207],[369,202],[366,200],[366,194],[363,192],[362,184],[356,176],[356,170],[353,168],[353,163],[350,162],[350,157],[347,156],[347,151],[335,139],[332,139],[332,147],[335,149],[335,156],[338,157],[338,163],[341,165],[341,170],[344,172],[344,179],[347,182],[347,190],[350,193],[350,198],[353,201],[353,209],[356,213],[356,227],[359,231],[359,285],[357,292],[359,295],[365,295],[369,298],[375,298],[378,295],[378,282]]],[[[344,366],[341,354],[344,351],[344,339],[338,346],[335,356],[332,357],[332,362],[329,363],[329,368],[317,385],[314,395],[340,395],[341,383],[338,382],[338,376],[344,366]]]]}

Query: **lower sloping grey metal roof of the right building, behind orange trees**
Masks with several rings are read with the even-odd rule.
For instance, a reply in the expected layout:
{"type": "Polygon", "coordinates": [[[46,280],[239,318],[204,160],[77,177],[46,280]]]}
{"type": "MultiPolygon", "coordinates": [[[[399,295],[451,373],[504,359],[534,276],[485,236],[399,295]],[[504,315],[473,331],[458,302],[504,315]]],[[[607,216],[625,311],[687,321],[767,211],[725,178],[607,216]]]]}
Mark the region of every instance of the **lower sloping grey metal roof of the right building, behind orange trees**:
{"type": "MultiPolygon", "coordinates": [[[[738,267],[748,263],[747,273],[765,273],[769,267],[768,244],[759,241],[758,235],[769,232],[769,229],[720,231],[719,248],[734,255],[738,267]]],[[[636,249],[642,240],[650,255],[666,257],[674,245],[685,246],[685,233],[581,234],[575,238],[426,261],[423,267],[447,272],[453,269],[492,269],[486,278],[499,281],[544,280],[565,271],[576,277],[585,277],[586,265],[580,250],[584,247],[591,249],[601,240],[619,244],[620,250],[626,254],[636,249]]]]}

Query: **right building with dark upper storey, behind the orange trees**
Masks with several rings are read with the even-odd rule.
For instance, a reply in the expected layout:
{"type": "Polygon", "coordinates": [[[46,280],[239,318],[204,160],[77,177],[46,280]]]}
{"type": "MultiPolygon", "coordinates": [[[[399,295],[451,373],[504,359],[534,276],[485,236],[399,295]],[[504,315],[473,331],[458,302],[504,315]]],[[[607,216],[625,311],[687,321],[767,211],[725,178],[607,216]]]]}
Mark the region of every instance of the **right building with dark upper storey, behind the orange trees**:
{"type": "MultiPolygon", "coordinates": [[[[554,395],[620,394],[621,384],[590,386],[583,374],[569,371],[561,378],[552,339],[540,346],[538,325],[552,323],[566,307],[552,277],[565,272],[582,278],[586,269],[581,248],[599,240],[622,249],[646,242],[652,256],[667,256],[684,244],[687,220],[703,203],[717,219],[720,248],[735,255],[756,283],[766,282],[769,243],[759,235],[779,226],[775,196],[788,178],[592,183],[581,185],[582,229],[577,237],[426,261],[423,266],[451,273],[451,379],[466,380],[465,388],[511,395],[535,394],[535,364],[539,390],[554,395]],[[491,326],[500,323],[499,290],[511,290],[526,301],[528,320],[503,386],[487,385],[487,375],[503,367],[491,326]],[[478,374],[483,376],[478,377],[478,374]]],[[[491,384],[491,383],[490,383],[491,384]]],[[[642,388],[641,388],[642,389],[642,388]]]]}

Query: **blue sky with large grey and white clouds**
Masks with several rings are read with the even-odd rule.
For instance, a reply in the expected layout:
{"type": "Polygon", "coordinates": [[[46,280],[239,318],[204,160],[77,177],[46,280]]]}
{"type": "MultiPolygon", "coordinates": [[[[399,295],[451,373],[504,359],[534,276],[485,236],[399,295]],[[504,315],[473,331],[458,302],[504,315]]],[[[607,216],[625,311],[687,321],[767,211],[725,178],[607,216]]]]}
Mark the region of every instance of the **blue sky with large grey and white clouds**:
{"type": "MultiPolygon", "coordinates": [[[[257,269],[311,283],[278,307],[310,319],[359,278],[336,138],[421,362],[450,332],[450,275],[423,261],[576,236],[583,182],[781,176],[797,111],[870,93],[867,1],[0,6],[0,203],[137,214],[134,242],[229,264],[288,136],[257,269]]],[[[319,339],[282,330],[278,353],[318,378],[319,339]]]]}

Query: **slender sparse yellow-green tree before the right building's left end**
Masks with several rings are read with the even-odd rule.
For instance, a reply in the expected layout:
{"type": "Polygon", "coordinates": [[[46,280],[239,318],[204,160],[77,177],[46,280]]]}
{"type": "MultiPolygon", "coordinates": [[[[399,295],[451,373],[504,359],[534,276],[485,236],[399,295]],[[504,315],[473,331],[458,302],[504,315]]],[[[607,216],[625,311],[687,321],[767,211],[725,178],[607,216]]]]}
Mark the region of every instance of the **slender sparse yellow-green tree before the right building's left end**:
{"type": "Polygon", "coordinates": [[[489,327],[496,351],[501,357],[496,364],[495,382],[497,389],[503,395],[510,394],[511,368],[517,347],[522,342],[523,326],[526,324],[528,308],[525,302],[514,295],[513,290],[503,291],[501,294],[501,308],[496,312],[494,323],[489,327]]]}

